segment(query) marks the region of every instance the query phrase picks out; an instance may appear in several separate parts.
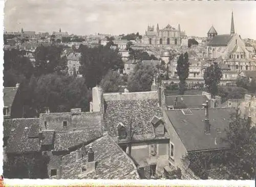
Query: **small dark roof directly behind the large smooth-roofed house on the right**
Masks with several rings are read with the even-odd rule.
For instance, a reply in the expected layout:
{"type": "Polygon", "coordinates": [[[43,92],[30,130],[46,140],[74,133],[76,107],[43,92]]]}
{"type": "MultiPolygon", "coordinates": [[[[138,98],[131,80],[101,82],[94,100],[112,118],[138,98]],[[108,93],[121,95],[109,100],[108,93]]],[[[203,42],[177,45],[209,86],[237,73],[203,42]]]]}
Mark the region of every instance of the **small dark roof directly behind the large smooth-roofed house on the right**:
{"type": "MultiPolygon", "coordinates": [[[[209,101],[204,95],[183,95],[183,96],[166,96],[166,106],[174,106],[175,108],[202,108],[202,104],[209,101]],[[175,99],[178,99],[175,107],[175,99]],[[183,101],[182,101],[183,98],[183,101]]],[[[210,102],[209,102],[210,104],[210,102]]]]}

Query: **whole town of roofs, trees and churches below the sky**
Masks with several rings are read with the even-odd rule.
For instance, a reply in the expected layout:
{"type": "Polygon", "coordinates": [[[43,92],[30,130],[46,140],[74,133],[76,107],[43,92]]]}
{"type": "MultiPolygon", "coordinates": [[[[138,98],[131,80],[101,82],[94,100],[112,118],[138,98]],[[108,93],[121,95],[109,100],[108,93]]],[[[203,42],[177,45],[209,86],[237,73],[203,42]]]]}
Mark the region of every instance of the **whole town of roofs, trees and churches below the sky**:
{"type": "Polygon", "coordinates": [[[209,25],[4,32],[4,177],[254,178],[256,40],[209,25]]]}

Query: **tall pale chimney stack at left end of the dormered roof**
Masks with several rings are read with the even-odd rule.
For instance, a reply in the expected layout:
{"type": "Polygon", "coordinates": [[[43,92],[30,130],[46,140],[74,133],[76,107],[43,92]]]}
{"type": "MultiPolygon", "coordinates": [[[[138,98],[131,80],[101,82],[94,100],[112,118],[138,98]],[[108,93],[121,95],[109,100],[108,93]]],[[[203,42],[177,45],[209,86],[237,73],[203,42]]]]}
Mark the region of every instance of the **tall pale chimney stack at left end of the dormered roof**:
{"type": "Polygon", "coordinates": [[[93,104],[92,104],[92,111],[100,112],[103,110],[103,90],[97,84],[96,87],[92,88],[92,95],[93,95],[93,104]]]}

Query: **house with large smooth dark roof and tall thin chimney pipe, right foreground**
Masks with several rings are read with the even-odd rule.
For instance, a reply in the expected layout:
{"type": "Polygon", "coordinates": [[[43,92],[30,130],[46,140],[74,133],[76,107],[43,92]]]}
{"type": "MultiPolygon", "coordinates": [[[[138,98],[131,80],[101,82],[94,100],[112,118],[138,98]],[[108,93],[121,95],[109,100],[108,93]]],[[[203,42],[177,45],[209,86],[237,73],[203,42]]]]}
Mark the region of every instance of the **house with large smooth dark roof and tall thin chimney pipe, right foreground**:
{"type": "Polygon", "coordinates": [[[229,128],[231,108],[166,110],[164,120],[170,134],[169,167],[188,168],[183,156],[189,152],[226,150],[223,141],[229,128]]]}

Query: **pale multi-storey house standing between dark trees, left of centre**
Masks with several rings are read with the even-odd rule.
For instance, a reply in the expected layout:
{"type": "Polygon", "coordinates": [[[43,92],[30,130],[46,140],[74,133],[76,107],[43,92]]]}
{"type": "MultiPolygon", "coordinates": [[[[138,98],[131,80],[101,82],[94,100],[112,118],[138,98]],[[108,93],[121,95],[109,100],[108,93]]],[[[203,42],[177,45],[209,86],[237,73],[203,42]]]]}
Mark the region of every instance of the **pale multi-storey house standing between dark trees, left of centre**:
{"type": "Polygon", "coordinates": [[[70,53],[67,56],[67,65],[68,65],[68,73],[70,76],[76,75],[80,76],[79,74],[79,67],[80,65],[80,58],[81,58],[81,53],[70,53]]]}

